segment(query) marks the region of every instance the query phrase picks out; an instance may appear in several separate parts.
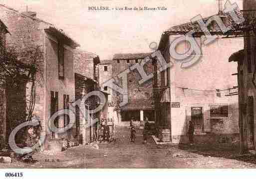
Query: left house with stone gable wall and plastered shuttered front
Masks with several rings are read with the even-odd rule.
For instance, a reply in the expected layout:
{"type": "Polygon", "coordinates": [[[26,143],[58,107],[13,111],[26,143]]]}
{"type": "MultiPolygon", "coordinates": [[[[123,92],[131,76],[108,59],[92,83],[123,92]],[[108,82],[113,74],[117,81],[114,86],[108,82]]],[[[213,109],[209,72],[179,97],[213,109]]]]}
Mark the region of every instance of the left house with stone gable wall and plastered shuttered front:
{"type": "MultiPolygon", "coordinates": [[[[39,72],[36,74],[36,102],[34,114],[41,120],[43,132],[50,135],[47,128],[50,119],[50,91],[59,92],[59,109],[63,108],[63,95],[69,95],[69,101],[74,100],[74,62],[73,48],[64,44],[64,79],[58,78],[58,40],[45,32],[46,28],[51,26],[36,17],[27,16],[16,10],[0,5],[1,20],[8,26],[11,35],[6,37],[6,46],[14,47],[16,52],[23,52],[31,48],[39,48],[42,59],[38,59],[39,72]]],[[[30,84],[26,84],[26,95],[29,94],[30,84]]],[[[23,92],[23,90],[21,90],[23,92]]],[[[11,90],[6,94],[12,95],[11,90]]],[[[25,95],[25,96],[26,96],[25,95]]],[[[23,116],[16,115],[14,110],[8,110],[11,120],[20,120],[23,116]]],[[[17,109],[22,109],[24,104],[17,103],[17,109]]],[[[8,109],[8,108],[7,108],[8,109]]],[[[22,115],[23,113],[21,113],[22,115]]],[[[20,123],[22,121],[19,121],[20,123]]],[[[63,126],[63,120],[59,120],[59,126],[63,126]]],[[[71,130],[72,131],[72,130],[71,130]]],[[[58,137],[65,137],[67,133],[60,134],[58,137]]],[[[70,135],[69,135],[70,137],[70,135]]],[[[72,136],[71,136],[72,138],[72,136]]]]}

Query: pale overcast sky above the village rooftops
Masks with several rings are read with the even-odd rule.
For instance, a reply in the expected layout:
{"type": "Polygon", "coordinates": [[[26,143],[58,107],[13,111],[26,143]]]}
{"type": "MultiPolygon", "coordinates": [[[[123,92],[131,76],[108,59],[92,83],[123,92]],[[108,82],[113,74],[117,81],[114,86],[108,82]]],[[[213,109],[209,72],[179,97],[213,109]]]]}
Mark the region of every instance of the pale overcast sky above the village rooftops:
{"type": "MultiPolygon", "coordinates": [[[[242,0],[237,2],[242,9],[242,0]]],[[[62,28],[101,60],[114,53],[150,52],[149,44],[159,42],[161,33],[193,16],[216,14],[216,0],[0,0],[19,11],[36,11],[37,17],[62,28]],[[163,11],[89,11],[88,6],[165,6],[163,11]]]]}

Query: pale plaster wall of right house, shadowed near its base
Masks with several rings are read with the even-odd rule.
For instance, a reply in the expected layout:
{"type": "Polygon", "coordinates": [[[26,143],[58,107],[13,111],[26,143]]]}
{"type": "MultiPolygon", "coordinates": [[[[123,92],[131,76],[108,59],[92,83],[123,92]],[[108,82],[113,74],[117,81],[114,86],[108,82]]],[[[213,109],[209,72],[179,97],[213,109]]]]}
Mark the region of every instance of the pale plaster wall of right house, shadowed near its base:
{"type": "MultiPolygon", "coordinates": [[[[170,36],[170,41],[174,37],[177,36],[170,36]]],[[[189,68],[180,68],[181,63],[170,57],[174,62],[174,66],[170,69],[171,102],[180,102],[181,105],[180,108],[171,108],[172,142],[188,142],[186,137],[179,136],[187,135],[191,107],[203,107],[204,132],[215,135],[239,133],[238,96],[225,96],[228,94],[228,91],[225,91],[222,92],[221,97],[217,97],[215,90],[237,86],[237,76],[232,76],[237,72],[237,65],[230,64],[229,57],[243,48],[243,38],[218,39],[210,45],[203,45],[202,58],[189,68]],[[214,118],[210,117],[210,106],[213,104],[229,106],[229,117],[221,118],[220,123],[223,123],[221,125],[211,123],[214,121],[214,118]],[[219,130],[216,127],[220,127],[219,130]]],[[[202,137],[206,138],[206,135],[202,137]]]]}

